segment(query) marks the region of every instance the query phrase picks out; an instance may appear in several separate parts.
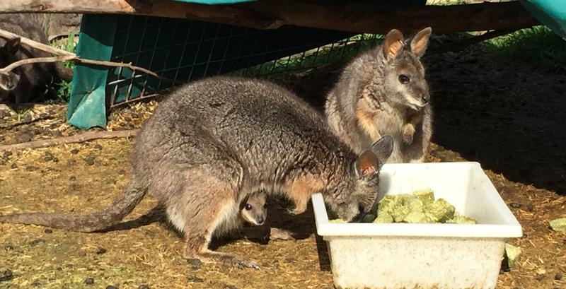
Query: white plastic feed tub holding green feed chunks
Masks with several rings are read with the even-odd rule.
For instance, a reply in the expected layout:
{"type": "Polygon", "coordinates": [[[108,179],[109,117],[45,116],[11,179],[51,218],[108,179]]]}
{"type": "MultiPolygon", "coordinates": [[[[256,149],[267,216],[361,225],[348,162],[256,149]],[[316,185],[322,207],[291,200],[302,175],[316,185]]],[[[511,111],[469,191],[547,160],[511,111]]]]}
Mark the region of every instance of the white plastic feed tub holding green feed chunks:
{"type": "Polygon", "coordinates": [[[507,238],[522,229],[479,163],[383,165],[379,197],[432,189],[477,225],[329,223],[312,196],[337,288],[495,288],[507,238]]]}

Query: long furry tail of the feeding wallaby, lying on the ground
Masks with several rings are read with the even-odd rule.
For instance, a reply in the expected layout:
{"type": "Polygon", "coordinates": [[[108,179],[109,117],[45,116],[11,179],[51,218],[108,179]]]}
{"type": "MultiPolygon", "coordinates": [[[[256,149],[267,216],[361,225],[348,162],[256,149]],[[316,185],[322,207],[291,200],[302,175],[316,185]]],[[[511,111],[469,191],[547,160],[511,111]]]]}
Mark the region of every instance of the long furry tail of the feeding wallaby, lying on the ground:
{"type": "Polygon", "coordinates": [[[46,227],[66,229],[78,232],[94,232],[119,223],[139,204],[146,194],[146,187],[135,179],[114,203],[103,211],[87,215],[63,213],[15,213],[0,216],[0,223],[19,223],[28,225],[44,225],[46,227]]]}

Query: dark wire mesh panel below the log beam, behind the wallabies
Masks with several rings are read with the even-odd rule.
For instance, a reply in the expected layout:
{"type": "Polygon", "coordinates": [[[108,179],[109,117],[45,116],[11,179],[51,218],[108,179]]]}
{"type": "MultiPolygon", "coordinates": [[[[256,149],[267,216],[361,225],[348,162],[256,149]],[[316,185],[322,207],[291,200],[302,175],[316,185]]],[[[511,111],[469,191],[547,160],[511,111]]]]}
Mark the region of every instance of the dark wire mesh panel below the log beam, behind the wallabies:
{"type": "MultiPolygon", "coordinates": [[[[342,61],[379,39],[310,28],[264,31],[171,18],[117,17],[111,60],[131,62],[175,83],[229,72],[267,76],[312,69],[342,61]]],[[[124,67],[112,69],[107,82],[110,107],[152,98],[175,83],[124,67]]]]}

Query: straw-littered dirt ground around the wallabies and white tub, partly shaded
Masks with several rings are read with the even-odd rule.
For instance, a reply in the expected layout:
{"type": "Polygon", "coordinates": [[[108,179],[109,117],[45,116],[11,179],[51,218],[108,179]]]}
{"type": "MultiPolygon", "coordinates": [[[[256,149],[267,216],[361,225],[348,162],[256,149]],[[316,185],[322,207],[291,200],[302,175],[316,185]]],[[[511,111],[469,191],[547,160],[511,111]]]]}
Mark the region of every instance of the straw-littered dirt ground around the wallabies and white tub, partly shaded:
{"type": "MultiPolygon", "coordinates": [[[[478,47],[425,60],[435,111],[429,161],[480,162],[523,226],[524,237],[509,240],[523,250],[521,261],[499,274],[498,288],[566,288],[566,234],[548,225],[566,217],[565,77],[492,65],[478,47]]],[[[320,107],[336,71],[276,81],[320,107]]],[[[138,127],[155,106],[117,110],[109,129],[138,127]]],[[[79,133],[65,124],[65,113],[64,105],[42,105],[0,119],[0,145],[79,133]]],[[[131,153],[130,139],[0,153],[0,213],[103,208],[125,188],[131,153]]],[[[144,199],[125,223],[103,233],[0,224],[0,288],[333,288],[310,209],[296,217],[280,204],[270,210],[273,225],[295,232],[296,242],[219,242],[221,252],[258,261],[262,270],[253,271],[182,259],[183,240],[155,205],[144,199]]]]}

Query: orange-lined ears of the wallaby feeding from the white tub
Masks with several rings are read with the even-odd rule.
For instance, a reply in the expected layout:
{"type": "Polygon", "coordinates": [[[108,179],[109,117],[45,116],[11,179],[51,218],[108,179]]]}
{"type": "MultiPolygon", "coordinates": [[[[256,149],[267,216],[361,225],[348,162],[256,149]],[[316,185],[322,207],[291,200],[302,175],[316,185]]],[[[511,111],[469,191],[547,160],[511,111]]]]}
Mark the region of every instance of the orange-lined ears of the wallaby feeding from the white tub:
{"type": "Polygon", "coordinates": [[[366,177],[379,171],[379,168],[393,152],[393,137],[383,136],[371,145],[369,150],[359,155],[356,161],[356,172],[359,177],[366,177]]]}

